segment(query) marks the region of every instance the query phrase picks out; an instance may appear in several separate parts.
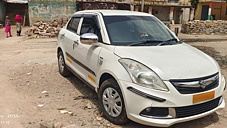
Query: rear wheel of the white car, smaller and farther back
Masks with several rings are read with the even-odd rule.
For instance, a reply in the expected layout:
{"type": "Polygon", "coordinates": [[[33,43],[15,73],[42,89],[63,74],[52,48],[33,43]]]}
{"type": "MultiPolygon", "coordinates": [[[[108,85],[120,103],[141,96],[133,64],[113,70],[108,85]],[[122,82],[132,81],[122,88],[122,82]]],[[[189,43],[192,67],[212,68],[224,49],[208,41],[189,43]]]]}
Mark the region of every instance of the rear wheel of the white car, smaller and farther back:
{"type": "Polygon", "coordinates": [[[71,72],[66,67],[65,59],[62,51],[59,51],[58,53],[58,70],[59,70],[59,73],[64,77],[71,75],[71,72]]]}

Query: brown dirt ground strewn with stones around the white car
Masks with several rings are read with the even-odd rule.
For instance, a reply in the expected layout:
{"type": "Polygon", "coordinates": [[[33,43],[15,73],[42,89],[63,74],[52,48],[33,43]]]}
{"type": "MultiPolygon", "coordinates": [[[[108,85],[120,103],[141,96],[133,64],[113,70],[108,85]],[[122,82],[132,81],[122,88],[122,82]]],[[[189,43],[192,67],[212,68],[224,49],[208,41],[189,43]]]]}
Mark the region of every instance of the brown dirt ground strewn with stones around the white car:
{"type": "MultiPolygon", "coordinates": [[[[12,31],[13,37],[5,38],[0,29],[0,128],[152,128],[132,121],[117,126],[103,119],[96,93],[77,77],[58,73],[55,38],[26,39],[17,37],[14,27],[12,31]]],[[[227,78],[227,36],[179,37],[213,56],[227,78]]],[[[227,108],[170,128],[224,128],[226,119],[227,108]]]]}

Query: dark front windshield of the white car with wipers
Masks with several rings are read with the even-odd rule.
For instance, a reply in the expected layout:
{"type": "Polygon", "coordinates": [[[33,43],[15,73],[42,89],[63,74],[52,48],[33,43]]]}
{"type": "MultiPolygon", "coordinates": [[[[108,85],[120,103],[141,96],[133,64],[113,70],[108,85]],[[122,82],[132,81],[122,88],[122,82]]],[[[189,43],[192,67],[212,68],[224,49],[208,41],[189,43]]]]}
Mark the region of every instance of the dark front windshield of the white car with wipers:
{"type": "Polygon", "coordinates": [[[104,16],[112,45],[159,46],[180,41],[159,20],[152,16],[104,16]]]}

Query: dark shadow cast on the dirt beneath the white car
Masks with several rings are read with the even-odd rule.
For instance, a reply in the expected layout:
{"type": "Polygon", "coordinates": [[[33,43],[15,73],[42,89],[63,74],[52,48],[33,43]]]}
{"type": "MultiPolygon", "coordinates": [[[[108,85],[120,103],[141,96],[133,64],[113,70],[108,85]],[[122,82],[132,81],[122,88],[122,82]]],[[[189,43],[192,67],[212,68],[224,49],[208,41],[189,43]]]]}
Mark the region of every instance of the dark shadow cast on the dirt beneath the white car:
{"type": "MultiPolygon", "coordinates": [[[[74,75],[68,77],[67,79],[83,95],[82,97],[75,97],[74,100],[88,99],[98,108],[98,112],[101,113],[97,93],[92,88],[87,86],[83,81],[81,81],[78,77],[76,77],[74,75]]],[[[199,119],[196,119],[193,121],[175,124],[173,126],[170,126],[169,128],[205,128],[213,123],[217,123],[218,120],[219,120],[218,115],[216,113],[212,113],[208,116],[205,116],[203,118],[199,118],[199,119]]],[[[129,123],[127,123],[125,125],[120,125],[119,127],[122,127],[122,128],[157,128],[157,127],[151,127],[151,126],[145,126],[142,124],[138,124],[133,121],[130,121],[129,123]]]]}

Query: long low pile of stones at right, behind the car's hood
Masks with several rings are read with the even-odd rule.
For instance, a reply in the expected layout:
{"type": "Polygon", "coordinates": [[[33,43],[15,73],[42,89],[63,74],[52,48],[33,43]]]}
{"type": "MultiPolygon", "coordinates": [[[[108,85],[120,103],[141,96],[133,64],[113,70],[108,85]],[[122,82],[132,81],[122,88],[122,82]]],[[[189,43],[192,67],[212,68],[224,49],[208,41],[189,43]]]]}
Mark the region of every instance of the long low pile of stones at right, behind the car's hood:
{"type": "Polygon", "coordinates": [[[227,34],[227,21],[189,21],[182,24],[181,32],[186,34],[227,34]]]}

